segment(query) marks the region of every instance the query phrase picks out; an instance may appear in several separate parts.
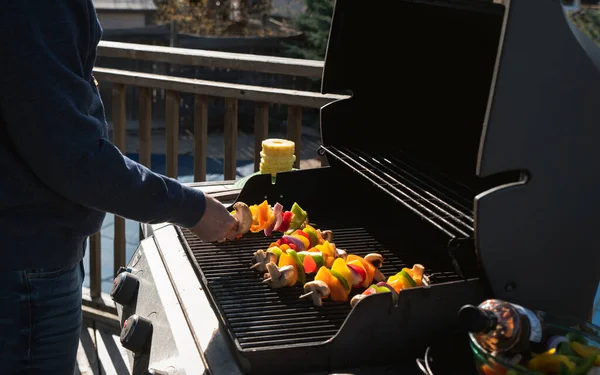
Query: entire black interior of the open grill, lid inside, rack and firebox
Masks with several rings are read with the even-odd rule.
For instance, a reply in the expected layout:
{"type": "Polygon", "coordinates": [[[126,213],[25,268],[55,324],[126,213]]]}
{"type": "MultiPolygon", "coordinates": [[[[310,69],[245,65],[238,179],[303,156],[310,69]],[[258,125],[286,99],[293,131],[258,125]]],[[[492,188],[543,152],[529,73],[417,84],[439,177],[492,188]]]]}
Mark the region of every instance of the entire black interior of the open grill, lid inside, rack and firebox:
{"type": "Polygon", "coordinates": [[[402,291],[396,306],[381,294],[353,309],[330,301],[316,308],[298,299],[300,287],[271,290],[249,268],[253,252],[274,239],[203,244],[181,231],[247,373],[416,358],[457,328],[461,306],[485,297],[473,200],[519,177],[475,176],[503,17],[503,6],[486,1],[336,1],[321,91],[351,98],[321,109],[320,152],[330,166],[278,174],[275,184],[255,176],[237,200],[298,202],[316,227],[333,231],[337,247],[381,253],[386,276],[423,264],[433,283],[402,291]],[[378,95],[390,87],[398,95],[378,95]]]}

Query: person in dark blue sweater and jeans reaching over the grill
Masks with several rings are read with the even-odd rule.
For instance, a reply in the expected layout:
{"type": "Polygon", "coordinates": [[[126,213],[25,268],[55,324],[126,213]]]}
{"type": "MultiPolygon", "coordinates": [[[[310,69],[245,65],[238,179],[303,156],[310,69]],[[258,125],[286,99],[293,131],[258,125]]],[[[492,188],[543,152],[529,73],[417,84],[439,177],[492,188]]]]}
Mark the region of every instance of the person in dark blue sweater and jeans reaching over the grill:
{"type": "Polygon", "coordinates": [[[0,373],[71,375],[105,212],[233,239],[225,207],[124,157],[92,77],[92,0],[0,2],[0,373]]]}

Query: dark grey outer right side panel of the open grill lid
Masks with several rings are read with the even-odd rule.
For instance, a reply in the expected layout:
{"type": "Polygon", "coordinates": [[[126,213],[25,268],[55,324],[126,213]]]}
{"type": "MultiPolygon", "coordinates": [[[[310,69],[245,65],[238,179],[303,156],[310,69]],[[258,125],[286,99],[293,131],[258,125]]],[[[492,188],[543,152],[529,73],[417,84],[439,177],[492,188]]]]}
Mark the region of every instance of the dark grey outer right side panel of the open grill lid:
{"type": "Polygon", "coordinates": [[[600,281],[600,74],[565,13],[557,1],[509,2],[478,173],[530,178],[478,196],[475,226],[498,297],[589,319],[600,281]]]}

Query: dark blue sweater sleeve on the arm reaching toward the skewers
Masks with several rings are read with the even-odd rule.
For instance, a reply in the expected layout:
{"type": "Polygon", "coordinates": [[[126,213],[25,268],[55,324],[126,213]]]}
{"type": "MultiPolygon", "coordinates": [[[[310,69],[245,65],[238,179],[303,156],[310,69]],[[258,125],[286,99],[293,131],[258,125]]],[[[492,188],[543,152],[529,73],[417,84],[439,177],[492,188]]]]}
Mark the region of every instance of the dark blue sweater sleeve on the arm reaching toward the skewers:
{"type": "Polygon", "coordinates": [[[0,116],[10,141],[32,173],[70,201],[191,227],[204,213],[204,194],[128,159],[108,140],[91,76],[97,36],[90,5],[0,5],[0,116]]]}

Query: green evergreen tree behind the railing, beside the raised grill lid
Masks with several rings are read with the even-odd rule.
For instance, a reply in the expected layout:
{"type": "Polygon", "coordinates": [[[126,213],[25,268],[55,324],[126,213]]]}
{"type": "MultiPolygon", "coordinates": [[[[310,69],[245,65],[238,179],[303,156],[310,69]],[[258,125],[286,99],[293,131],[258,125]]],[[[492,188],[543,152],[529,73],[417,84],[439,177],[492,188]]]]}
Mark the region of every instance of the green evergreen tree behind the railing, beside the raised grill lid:
{"type": "Polygon", "coordinates": [[[296,29],[304,34],[300,43],[287,45],[286,54],[309,60],[323,60],[335,0],[304,0],[306,12],[296,19],[296,29]]]}

